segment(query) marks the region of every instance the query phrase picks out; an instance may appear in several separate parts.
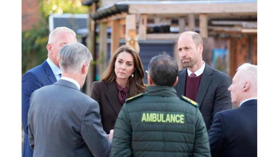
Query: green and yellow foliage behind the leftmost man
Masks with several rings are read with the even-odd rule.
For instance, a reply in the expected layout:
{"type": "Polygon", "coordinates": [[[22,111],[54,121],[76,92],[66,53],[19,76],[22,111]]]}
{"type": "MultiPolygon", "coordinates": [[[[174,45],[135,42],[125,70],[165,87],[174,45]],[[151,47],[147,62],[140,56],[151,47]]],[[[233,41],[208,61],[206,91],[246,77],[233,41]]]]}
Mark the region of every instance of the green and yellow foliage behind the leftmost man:
{"type": "Polygon", "coordinates": [[[22,74],[47,59],[49,15],[52,13],[88,13],[88,7],[82,6],[81,0],[37,1],[40,9],[40,21],[33,26],[32,30],[22,31],[22,74]]]}

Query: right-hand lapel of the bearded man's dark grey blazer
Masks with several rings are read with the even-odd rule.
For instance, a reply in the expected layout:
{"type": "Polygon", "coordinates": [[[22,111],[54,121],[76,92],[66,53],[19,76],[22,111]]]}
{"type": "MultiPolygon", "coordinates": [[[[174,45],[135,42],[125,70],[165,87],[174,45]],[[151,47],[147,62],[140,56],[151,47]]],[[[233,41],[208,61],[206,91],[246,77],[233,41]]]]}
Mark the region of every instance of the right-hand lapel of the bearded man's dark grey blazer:
{"type": "MultiPolygon", "coordinates": [[[[205,63],[205,62],[204,62],[205,63]]],[[[209,88],[209,85],[211,83],[212,77],[212,69],[210,69],[209,65],[205,63],[205,68],[203,70],[203,76],[201,76],[201,82],[198,87],[198,93],[196,97],[196,102],[198,103],[198,108],[201,107],[201,103],[203,102],[203,98],[209,88]]]]}

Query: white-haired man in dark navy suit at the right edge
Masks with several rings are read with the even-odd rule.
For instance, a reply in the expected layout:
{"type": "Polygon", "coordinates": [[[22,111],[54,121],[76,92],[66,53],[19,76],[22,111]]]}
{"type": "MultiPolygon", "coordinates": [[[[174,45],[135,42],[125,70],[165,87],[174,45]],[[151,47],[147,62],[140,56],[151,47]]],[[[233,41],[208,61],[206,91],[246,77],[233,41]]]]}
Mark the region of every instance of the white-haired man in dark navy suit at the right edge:
{"type": "Polygon", "coordinates": [[[228,88],[240,106],[216,113],[209,134],[212,156],[257,156],[257,66],[237,69],[228,88]]]}

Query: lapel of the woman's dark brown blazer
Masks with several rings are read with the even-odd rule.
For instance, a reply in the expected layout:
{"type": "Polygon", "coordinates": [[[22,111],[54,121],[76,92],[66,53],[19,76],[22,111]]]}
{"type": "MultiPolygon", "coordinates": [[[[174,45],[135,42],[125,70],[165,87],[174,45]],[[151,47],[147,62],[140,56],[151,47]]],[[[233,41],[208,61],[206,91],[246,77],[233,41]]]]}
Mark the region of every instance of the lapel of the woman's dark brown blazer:
{"type": "Polygon", "coordinates": [[[111,83],[108,83],[108,92],[105,93],[105,96],[107,97],[108,101],[110,102],[110,105],[112,109],[115,111],[116,115],[120,112],[122,105],[119,102],[118,98],[118,90],[116,88],[115,82],[112,81],[111,83]]]}

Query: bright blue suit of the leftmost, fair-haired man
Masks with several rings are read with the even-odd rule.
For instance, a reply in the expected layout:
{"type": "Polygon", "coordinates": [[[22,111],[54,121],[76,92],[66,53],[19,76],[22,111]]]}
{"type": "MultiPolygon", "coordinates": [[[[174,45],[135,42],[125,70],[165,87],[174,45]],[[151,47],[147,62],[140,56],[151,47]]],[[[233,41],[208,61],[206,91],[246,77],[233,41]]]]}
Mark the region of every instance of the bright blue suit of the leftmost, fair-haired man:
{"type": "Polygon", "coordinates": [[[28,140],[27,115],[30,104],[30,97],[34,90],[45,85],[51,85],[57,80],[45,60],[41,65],[30,69],[22,76],[22,125],[24,129],[23,157],[32,157],[33,150],[30,148],[28,140]]]}

